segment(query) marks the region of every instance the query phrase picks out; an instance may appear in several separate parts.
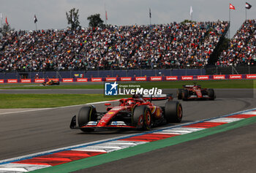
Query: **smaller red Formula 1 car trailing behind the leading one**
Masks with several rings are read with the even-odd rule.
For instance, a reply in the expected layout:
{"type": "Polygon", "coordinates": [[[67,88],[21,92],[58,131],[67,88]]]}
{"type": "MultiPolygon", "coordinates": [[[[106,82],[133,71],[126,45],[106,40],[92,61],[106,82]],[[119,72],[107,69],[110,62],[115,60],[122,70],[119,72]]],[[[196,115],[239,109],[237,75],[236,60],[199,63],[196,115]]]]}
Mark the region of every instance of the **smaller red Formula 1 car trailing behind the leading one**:
{"type": "Polygon", "coordinates": [[[195,100],[195,99],[209,99],[214,100],[216,98],[214,89],[201,88],[201,85],[183,85],[182,89],[177,91],[178,99],[195,100]]]}

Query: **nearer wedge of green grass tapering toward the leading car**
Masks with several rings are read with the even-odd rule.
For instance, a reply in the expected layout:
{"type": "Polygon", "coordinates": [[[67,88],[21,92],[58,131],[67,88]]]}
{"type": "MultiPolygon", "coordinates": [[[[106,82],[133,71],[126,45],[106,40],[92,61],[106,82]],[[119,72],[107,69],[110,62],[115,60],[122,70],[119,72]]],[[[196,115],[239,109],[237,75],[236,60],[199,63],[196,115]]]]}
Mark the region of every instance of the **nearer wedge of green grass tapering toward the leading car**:
{"type": "Polygon", "coordinates": [[[0,94],[0,109],[64,107],[96,101],[120,99],[124,96],[104,97],[102,94],[0,94]]]}

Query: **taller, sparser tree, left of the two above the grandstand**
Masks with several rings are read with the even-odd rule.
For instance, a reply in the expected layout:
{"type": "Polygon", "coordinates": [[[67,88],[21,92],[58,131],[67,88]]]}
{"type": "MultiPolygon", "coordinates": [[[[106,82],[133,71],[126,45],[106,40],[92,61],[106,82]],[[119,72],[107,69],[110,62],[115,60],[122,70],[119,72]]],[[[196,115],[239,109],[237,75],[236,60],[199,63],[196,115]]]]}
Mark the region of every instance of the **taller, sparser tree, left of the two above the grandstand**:
{"type": "Polygon", "coordinates": [[[79,18],[78,12],[79,12],[79,9],[75,10],[75,8],[70,9],[68,13],[66,12],[67,24],[71,25],[72,30],[81,28],[80,22],[78,20],[79,18]]]}

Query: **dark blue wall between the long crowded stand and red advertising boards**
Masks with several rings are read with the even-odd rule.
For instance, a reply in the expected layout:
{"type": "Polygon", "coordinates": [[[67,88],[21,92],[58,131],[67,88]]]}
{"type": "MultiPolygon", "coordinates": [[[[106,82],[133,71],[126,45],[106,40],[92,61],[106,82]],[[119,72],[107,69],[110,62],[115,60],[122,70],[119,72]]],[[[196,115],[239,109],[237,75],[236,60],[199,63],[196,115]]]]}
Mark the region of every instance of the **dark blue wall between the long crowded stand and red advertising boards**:
{"type": "Polygon", "coordinates": [[[143,76],[187,76],[205,75],[206,69],[130,69],[130,70],[96,70],[69,72],[1,72],[0,79],[34,79],[39,78],[75,78],[81,74],[85,78],[91,77],[143,77],[143,76]]]}

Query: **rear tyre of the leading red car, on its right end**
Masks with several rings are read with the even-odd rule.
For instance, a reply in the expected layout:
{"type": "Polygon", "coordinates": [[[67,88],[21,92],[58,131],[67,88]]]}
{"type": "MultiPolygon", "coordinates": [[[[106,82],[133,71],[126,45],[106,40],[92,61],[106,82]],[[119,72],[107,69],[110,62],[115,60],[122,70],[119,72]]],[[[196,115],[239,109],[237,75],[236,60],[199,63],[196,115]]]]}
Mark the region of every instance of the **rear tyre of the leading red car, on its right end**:
{"type": "Polygon", "coordinates": [[[168,123],[180,123],[183,117],[181,103],[178,101],[167,101],[165,103],[165,119],[168,123]]]}

